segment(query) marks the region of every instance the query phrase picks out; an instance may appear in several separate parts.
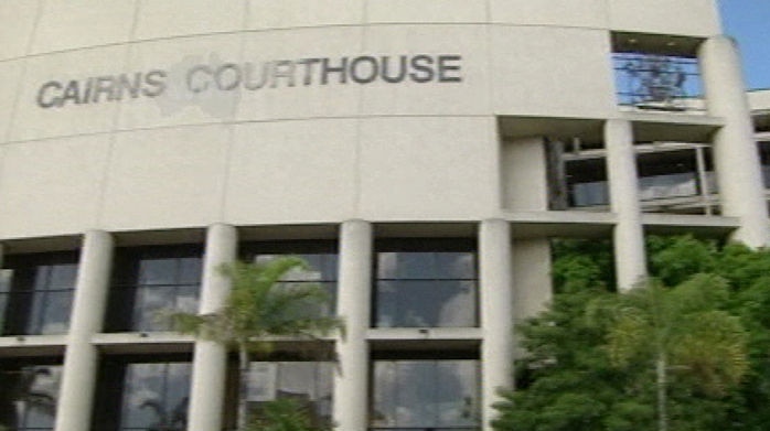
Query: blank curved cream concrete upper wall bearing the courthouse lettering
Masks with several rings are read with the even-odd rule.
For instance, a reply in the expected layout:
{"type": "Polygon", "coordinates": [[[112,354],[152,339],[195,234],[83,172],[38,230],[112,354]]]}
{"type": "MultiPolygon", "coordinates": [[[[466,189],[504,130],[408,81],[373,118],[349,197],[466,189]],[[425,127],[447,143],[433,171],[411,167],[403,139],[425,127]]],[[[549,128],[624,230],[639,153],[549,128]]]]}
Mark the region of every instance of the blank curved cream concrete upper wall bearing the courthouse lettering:
{"type": "Polygon", "coordinates": [[[719,33],[649,3],[3,1],[0,238],[494,216],[496,116],[610,118],[610,30],[719,33]]]}

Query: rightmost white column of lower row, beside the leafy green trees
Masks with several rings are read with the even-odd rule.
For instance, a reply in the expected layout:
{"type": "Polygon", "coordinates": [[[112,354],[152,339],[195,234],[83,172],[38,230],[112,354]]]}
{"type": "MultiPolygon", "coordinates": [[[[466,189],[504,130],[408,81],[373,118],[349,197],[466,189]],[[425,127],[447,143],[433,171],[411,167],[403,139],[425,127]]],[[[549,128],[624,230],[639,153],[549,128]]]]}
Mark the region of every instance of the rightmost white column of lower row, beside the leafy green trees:
{"type": "Polygon", "coordinates": [[[513,389],[513,285],[511,227],[486,219],[479,228],[479,297],[481,309],[481,402],[483,430],[498,416],[492,405],[500,388],[513,389]]]}

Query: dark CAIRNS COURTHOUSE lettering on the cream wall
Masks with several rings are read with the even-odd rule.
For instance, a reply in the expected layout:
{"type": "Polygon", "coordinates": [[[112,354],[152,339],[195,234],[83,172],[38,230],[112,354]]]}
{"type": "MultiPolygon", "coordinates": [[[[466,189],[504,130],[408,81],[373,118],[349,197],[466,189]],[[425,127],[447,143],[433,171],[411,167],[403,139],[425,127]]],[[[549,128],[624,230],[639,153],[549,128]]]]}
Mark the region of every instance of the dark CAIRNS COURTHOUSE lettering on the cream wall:
{"type": "Polygon", "coordinates": [[[169,79],[181,79],[191,94],[258,91],[313,85],[366,85],[373,83],[460,83],[462,56],[458,54],[360,55],[267,62],[193,64],[181,74],[153,68],[143,72],[49,80],[40,86],[41,108],[158,97],[169,79]]]}

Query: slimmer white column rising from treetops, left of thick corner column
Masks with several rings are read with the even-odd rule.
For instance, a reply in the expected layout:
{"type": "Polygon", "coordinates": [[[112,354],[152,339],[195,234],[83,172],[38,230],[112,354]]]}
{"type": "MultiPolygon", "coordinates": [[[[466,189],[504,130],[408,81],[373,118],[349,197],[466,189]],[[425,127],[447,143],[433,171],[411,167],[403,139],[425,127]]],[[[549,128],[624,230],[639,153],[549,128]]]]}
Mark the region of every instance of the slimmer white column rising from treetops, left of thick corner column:
{"type": "Polygon", "coordinates": [[[618,119],[607,120],[605,146],[607,147],[610,206],[618,217],[612,238],[616,278],[618,289],[622,291],[633,288],[646,277],[644,233],[631,122],[618,119]]]}

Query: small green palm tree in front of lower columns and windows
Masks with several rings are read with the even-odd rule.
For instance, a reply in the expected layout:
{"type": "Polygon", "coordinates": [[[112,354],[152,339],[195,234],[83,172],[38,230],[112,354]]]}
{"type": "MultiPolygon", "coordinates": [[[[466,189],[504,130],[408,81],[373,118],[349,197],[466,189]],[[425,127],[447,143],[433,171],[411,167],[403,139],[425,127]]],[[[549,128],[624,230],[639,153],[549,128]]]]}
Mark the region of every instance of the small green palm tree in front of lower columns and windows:
{"type": "Polygon", "coordinates": [[[225,265],[222,271],[233,287],[222,309],[210,314],[171,314],[177,331],[222,343],[238,353],[239,430],[247,423],[245,376],[249,369],[249,353],[269,353],[275,337],[319,340],[334,331],[344,331],[340,319],[313,312],[319,303],[329,301],[319,284],[282,281],[290,271],[307,269],[307,262],[297,257],[225,265]]]}

